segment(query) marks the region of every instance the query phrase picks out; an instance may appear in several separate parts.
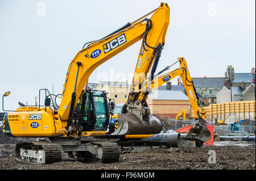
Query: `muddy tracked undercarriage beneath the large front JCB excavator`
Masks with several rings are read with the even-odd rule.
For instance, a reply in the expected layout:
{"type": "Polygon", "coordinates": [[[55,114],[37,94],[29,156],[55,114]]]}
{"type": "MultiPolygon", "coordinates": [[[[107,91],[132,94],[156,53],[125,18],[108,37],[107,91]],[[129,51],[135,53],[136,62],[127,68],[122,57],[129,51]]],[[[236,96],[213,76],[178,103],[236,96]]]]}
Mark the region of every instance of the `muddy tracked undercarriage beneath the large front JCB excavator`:
{"type": "Polygon", "coordinates": [[[53,137],[51,141],[22,141],[16,144],[16,160],[26,163],[60,162],[62,153],[83,162],[118,162],[120,147],[115,142],[90,141],[81,137],[53,137]]]}

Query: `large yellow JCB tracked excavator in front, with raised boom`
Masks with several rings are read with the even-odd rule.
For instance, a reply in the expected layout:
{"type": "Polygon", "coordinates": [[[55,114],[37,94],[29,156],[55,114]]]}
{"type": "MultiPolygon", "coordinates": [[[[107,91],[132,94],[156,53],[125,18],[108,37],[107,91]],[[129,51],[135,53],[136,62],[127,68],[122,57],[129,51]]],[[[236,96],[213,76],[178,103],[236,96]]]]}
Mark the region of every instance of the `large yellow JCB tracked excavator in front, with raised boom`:
{"type": "Polygon", "coordinates": [[[60,96],[40,89],[38,106],[23,105],[14,112],[6,113],[3,120],[5,135],[46,138],[16,144],[16,159],[29,163],[51,163],[60,161],[62,151],[66,151],[70,156],[85,161],[118,161],[118,144],[109,140],[89,139],[90,136],[107,132],[109,105],[105,92],[86,89],[86,84],[94,69],[139,40],[142,40],[142,44],[134,71],[135,84],[127,101],[130,112],[119,114],[123,127],[117,134],[159,133],[162,123],[158,117],[150,114],[144,99],[148,92],[142,91],[141,87],[147,75],[154,77],[169,20],[170,7],[167,3],[160,3],[157,9],[134,22],[127,23],[102,39],[86,43],[68,66],[60,96]],[[40,96],[44,95],[44,106],[41,106],[40,96]],[[51,106],[54,96],[55,100],[61,98],[59,106],[51,106]]]}

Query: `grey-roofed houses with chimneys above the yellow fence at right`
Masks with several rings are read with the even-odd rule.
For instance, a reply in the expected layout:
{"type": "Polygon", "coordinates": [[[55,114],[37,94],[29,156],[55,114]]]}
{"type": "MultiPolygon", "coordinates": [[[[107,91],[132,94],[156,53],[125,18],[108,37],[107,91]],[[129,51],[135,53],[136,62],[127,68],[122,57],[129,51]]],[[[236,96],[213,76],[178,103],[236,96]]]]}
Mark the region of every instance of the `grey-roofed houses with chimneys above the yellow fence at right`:
{"type": "Polygon", "coordinates": [[[251,73],[234,73],[228,66],[225,77],[193,78],[197,94],[205,105],[255,100],[255,69],[251,73]]]}

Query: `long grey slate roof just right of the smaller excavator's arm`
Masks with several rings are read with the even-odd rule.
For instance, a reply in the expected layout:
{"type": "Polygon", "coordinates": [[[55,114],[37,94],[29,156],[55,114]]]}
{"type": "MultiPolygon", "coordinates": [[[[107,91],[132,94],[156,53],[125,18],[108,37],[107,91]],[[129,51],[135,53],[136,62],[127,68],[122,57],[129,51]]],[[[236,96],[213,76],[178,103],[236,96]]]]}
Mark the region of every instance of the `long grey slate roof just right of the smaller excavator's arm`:
{"type": "Polygon", "coordinates": [[[225,77],[192,78],[195,87],[224,87],[225,77]]]}

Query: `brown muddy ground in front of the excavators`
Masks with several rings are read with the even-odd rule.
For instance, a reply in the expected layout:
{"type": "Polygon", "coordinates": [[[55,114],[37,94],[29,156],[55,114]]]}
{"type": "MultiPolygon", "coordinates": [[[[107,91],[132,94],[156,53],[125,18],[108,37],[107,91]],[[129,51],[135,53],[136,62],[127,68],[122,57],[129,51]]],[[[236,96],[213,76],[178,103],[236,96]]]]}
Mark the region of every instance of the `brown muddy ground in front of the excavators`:
{"type": "Polygon", "coordinates": [[[47,165],[22,163],[15,160],[15,144],[1,144],[0,170],[255,170],[255,144],[249,146],[203,146],[202,148],[148,149],[139,153],[121,154],[119,162],[78,162],[63,154],[61,162],[47,165]],[[214,151],[210,151],[214,150],[214,151]],[[213,153],[216,153],[216,163],[213,153]]]}

